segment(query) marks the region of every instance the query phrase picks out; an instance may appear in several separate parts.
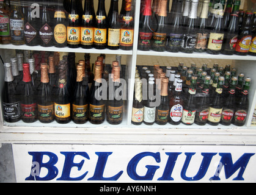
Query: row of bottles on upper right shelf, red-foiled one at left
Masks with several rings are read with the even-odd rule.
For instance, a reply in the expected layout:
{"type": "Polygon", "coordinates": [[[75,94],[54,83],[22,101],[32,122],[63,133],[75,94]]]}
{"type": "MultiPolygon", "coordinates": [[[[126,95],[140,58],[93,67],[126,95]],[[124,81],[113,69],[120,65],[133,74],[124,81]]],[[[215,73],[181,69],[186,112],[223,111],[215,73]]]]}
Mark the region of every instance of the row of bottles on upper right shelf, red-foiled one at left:
{"type": "Polygon", "coordinates": [[[138,49],[256,55],[256,13],[240,0],[144,0],[138,49]],[[224,11],[225,10],[225,11],[224,11]]]}

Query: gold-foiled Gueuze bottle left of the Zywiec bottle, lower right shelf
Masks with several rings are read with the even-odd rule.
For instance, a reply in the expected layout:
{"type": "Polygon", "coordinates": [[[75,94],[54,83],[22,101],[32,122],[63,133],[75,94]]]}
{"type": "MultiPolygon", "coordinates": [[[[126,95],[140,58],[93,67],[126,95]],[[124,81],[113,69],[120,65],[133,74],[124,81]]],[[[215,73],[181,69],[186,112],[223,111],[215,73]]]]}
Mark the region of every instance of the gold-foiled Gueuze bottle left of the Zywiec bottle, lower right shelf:
{"type": "Polygon", "coordinates": [[[161,79],[161,103],[156,107],[156,124],[165,125],[169,119],[168,82],[167,77],[161,79]]]}

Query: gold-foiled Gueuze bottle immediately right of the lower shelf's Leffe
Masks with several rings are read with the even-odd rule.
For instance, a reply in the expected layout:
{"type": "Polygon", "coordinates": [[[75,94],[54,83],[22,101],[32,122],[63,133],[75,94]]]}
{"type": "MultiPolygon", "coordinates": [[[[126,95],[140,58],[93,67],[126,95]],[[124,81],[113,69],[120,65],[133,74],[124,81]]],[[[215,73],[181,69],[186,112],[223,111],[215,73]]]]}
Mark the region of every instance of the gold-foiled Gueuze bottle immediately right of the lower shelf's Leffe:
{"type": "Polygon", "coordinates": [[[72,104],[71,116],[72,120],[77,124],[84,124],[88,120],[88,110],[89,110],[89,97],[84,87],[83,81],[83,63],[79,62],[77,65],[77,77],[75,85],[75,93],[72,104]]]}

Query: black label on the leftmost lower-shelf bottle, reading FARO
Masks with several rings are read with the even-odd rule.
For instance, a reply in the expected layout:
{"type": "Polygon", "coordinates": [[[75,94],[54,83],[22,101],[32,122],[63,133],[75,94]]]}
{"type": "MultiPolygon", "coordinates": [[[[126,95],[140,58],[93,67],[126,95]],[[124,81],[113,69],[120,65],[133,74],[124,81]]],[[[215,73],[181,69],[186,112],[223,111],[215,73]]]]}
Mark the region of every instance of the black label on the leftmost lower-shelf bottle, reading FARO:
{"type": "Polygon", "coordinates": [[[20,102],[2,103],[4,108],[4,118],[17,119],[20,117],[20,102]]]}

